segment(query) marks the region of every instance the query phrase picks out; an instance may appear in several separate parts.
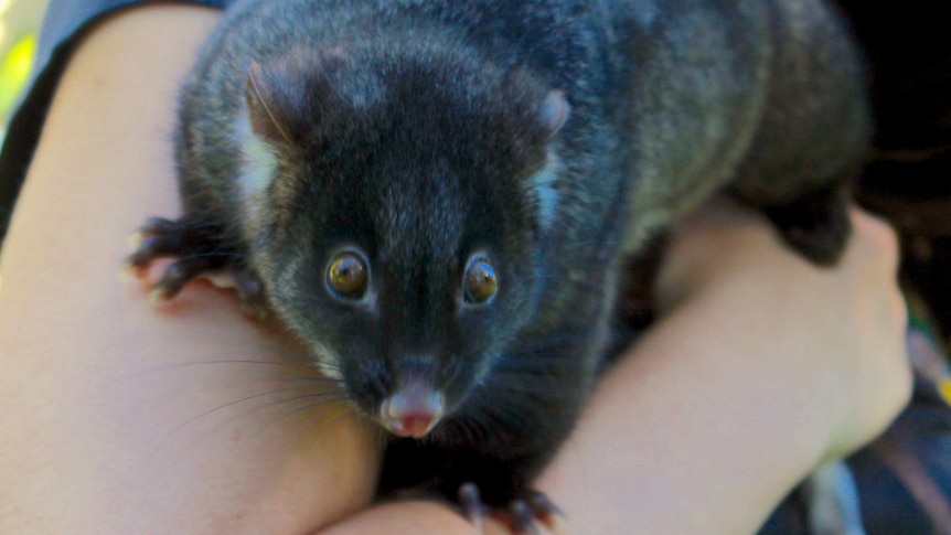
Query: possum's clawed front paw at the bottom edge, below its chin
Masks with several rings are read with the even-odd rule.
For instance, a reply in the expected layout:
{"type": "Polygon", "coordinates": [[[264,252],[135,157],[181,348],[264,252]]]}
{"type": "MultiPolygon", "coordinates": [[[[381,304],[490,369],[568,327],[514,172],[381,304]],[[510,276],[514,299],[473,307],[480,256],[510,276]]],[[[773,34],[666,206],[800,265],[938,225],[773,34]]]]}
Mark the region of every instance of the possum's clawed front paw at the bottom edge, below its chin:
{"type": "Polygon", "coordinates": [[[507,507],[488,507],[479,495],[474,483],[466,483],[459,488],[459,505],[462,514],[476,526],[477,533],[482,533],[482,523],[487,515],[500,516],[512,533],[541,534],[538,524],[548,533],[564,533],[564,514],[548,496],[538,491],[524,491],[513,499],[507,507]]]}

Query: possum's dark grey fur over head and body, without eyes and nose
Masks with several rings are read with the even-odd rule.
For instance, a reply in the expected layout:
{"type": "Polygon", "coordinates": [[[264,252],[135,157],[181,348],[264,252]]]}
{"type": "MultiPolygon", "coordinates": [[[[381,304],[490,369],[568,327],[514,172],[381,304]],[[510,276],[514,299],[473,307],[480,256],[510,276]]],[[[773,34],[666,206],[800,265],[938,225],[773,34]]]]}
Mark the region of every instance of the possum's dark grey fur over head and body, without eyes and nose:
{"type": "Polygon", "coordinates": [[[621,266],[652,236],[728,190],[835,260],[863,92],[819,0],[238,2],[182,94],[184,216],[153,221],[132,261],[182,256],[169,295],[229,270],[253,300],[260,280],[367,414],[407,370],[430,377],[449,416],[394,441],[384,488],[451,497],[471,481],[502,506],[571,429],[621,266]],[[235,122],[253,62],[279,165],[250,210],[235,122]],[[560,129],[553,90],[570,104],[560,129]],[[551,158],[557,173],[537,179],[551,158]],[[324,286],[350,246],[372,271],[356,304],[324,286]],[[500,290],[471,307],[462,269],[479,250],[500,290]]]}

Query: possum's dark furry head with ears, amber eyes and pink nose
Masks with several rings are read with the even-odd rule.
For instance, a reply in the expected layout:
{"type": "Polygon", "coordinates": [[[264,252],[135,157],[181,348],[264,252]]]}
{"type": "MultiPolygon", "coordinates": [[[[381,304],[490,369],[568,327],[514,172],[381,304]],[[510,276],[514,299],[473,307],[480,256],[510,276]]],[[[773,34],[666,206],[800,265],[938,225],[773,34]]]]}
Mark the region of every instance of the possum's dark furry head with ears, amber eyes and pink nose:
{"type": "Polygon", "coordinates": [[[275,310],[361,410],[426,436],[537,306],[565,96],[398,47],[299,51],[245,89],[244,233],[275,310]]]}

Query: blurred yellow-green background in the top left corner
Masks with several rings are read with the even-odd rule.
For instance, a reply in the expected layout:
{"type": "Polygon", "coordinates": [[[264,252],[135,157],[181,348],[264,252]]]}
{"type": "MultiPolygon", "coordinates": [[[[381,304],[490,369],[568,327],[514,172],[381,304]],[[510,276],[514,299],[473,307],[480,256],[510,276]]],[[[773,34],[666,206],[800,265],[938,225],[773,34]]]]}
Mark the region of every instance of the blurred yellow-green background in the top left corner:
{"type": "Polygon", "coordinates": [[[0,0],[0,139],[10,108],[30,75],[46,0],[0,0]]]}

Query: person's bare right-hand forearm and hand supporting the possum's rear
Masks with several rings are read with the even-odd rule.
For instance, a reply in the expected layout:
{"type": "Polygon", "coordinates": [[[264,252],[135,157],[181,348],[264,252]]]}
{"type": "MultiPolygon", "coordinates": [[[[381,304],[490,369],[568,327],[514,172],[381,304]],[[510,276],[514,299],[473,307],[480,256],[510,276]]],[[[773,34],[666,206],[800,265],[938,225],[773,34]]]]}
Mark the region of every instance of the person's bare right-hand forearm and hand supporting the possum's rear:
{"type": "Polygon", "coordinates": [[[816,463],[895,417],[910,378],[894,237],[854,222],[834,270],[736,208],[681,233],[661,283],[670,312],[539,483],[571,533],[751,533],[816,463]]]}

